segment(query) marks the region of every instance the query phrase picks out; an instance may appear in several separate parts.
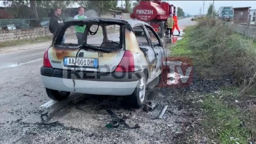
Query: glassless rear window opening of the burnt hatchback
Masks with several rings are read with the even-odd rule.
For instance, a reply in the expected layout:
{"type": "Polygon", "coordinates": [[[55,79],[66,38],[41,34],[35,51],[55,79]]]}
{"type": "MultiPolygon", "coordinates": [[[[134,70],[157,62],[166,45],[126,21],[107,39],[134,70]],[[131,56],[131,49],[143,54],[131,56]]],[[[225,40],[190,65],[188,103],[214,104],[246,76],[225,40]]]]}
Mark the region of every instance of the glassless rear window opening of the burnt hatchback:
{"type": "MultiPolygon", "coordinates": [[[[123,25],[115,23],[77,23],[64,25],[57,30],[53,45],[56,47],[81,48],[95,47],[104,50],[120,50],[123,48],[123,25]],[[71,27],[75,33],[70,34],[71,27]],[[64,39],[63,39],[64,37],[64,39]],[[62,41],[63,40],[63,41],[62,41]]],[[[92,48],[91,48],[92,49],[92,48]]]]}

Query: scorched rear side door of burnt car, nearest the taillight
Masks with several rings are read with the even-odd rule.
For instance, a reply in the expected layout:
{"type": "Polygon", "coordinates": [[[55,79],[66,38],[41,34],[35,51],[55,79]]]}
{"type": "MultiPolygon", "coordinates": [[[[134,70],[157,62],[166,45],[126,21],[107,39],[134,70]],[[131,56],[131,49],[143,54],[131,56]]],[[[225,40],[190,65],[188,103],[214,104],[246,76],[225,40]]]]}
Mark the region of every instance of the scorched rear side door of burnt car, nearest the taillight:
{"type": "MultiPolygon", "coordinates": [[[[142,24],[138,24],[133,26],[133,30],[135,30],[135,36],[137,42],[139,44],[140,49],[143,51],[144,57],[148,63],[148,82],[151,82],[155,77],[155,68],[156,68],[156,53],[152,48],[152,44],[149,40],[148,33],[145,30],[145,27],[142,24]],[[136,33],[136,32],[142,33],[136,33]]],[[[145,67],[145,66],[143,66],[145,67]]]]}

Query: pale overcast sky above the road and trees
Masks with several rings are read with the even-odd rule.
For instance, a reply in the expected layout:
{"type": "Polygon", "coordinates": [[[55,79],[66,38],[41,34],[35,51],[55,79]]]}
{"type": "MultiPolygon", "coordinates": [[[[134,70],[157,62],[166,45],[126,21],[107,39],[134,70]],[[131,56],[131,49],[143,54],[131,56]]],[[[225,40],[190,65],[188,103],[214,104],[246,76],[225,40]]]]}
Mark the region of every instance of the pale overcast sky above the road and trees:
{"type": "MultiPolygon", "coordinates": [[[[0,0],[0,6],[3,7],[2,1],[0,0]]],[[[133,2],[136,0],[132,0],[133,2]]],[[[176,8],[180,7],[183,9],[185,13],[189,13],[190,15],[199,14],[199,8],[202,7],[203,13],[203,0],[162,0],[169,1],[170,4],[173,4],[176,8]]],[[[207,9],[212,3],[213,0],[205,0],[204,13],[207,13],[207,9]]],[[[118,0],[118,6],[121,6],[122,0],[118,0]]],[[[124,0],[123,0],[124,4],[124,0]]],[[[255,0],[215,0],[214,7],[218,10],[221,6],[233,6],[236,7],[252,7],[251,9],[256,9],[256,1],[255,0]]]]}

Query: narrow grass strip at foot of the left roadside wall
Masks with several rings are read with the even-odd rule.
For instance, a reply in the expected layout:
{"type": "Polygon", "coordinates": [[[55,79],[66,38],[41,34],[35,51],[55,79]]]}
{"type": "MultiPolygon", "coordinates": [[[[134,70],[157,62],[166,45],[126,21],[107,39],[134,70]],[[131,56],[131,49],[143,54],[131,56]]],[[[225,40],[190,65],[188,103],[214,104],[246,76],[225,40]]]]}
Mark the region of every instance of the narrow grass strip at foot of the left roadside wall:
{"type": "Polygon", "coordinates": [[[31,38],[31,39],[5,41],[5,42],[0,42],[0,48],[17,46],[17,45],[21,45],[21,44],[33,44],[33,43],[38,43],[38,42],[48,42],[51,40],[52,39],[50,36],[40,36],[37,38],[31,38]]]}

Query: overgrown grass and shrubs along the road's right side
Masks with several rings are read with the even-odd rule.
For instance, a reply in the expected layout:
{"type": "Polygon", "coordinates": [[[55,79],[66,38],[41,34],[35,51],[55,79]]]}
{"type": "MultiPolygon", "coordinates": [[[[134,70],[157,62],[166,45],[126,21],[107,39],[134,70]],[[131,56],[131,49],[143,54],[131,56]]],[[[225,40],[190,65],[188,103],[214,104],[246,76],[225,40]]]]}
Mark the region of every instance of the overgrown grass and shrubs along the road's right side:
{"type": "Polygon", "coordinates": [[[171,47],[171,56],[190,57],[200,79],[226,83],[217,92],[193,94],[202,102],[190,104],[190,109],[202,111],[194,120],[203,120],[187,135],[206,137],[207,144],[254,144],[256,42],[221,22],[202,19],[186,27],[184,38],[171,47]],[[247,85],[249,90],[241,93],[247,85]]]}

